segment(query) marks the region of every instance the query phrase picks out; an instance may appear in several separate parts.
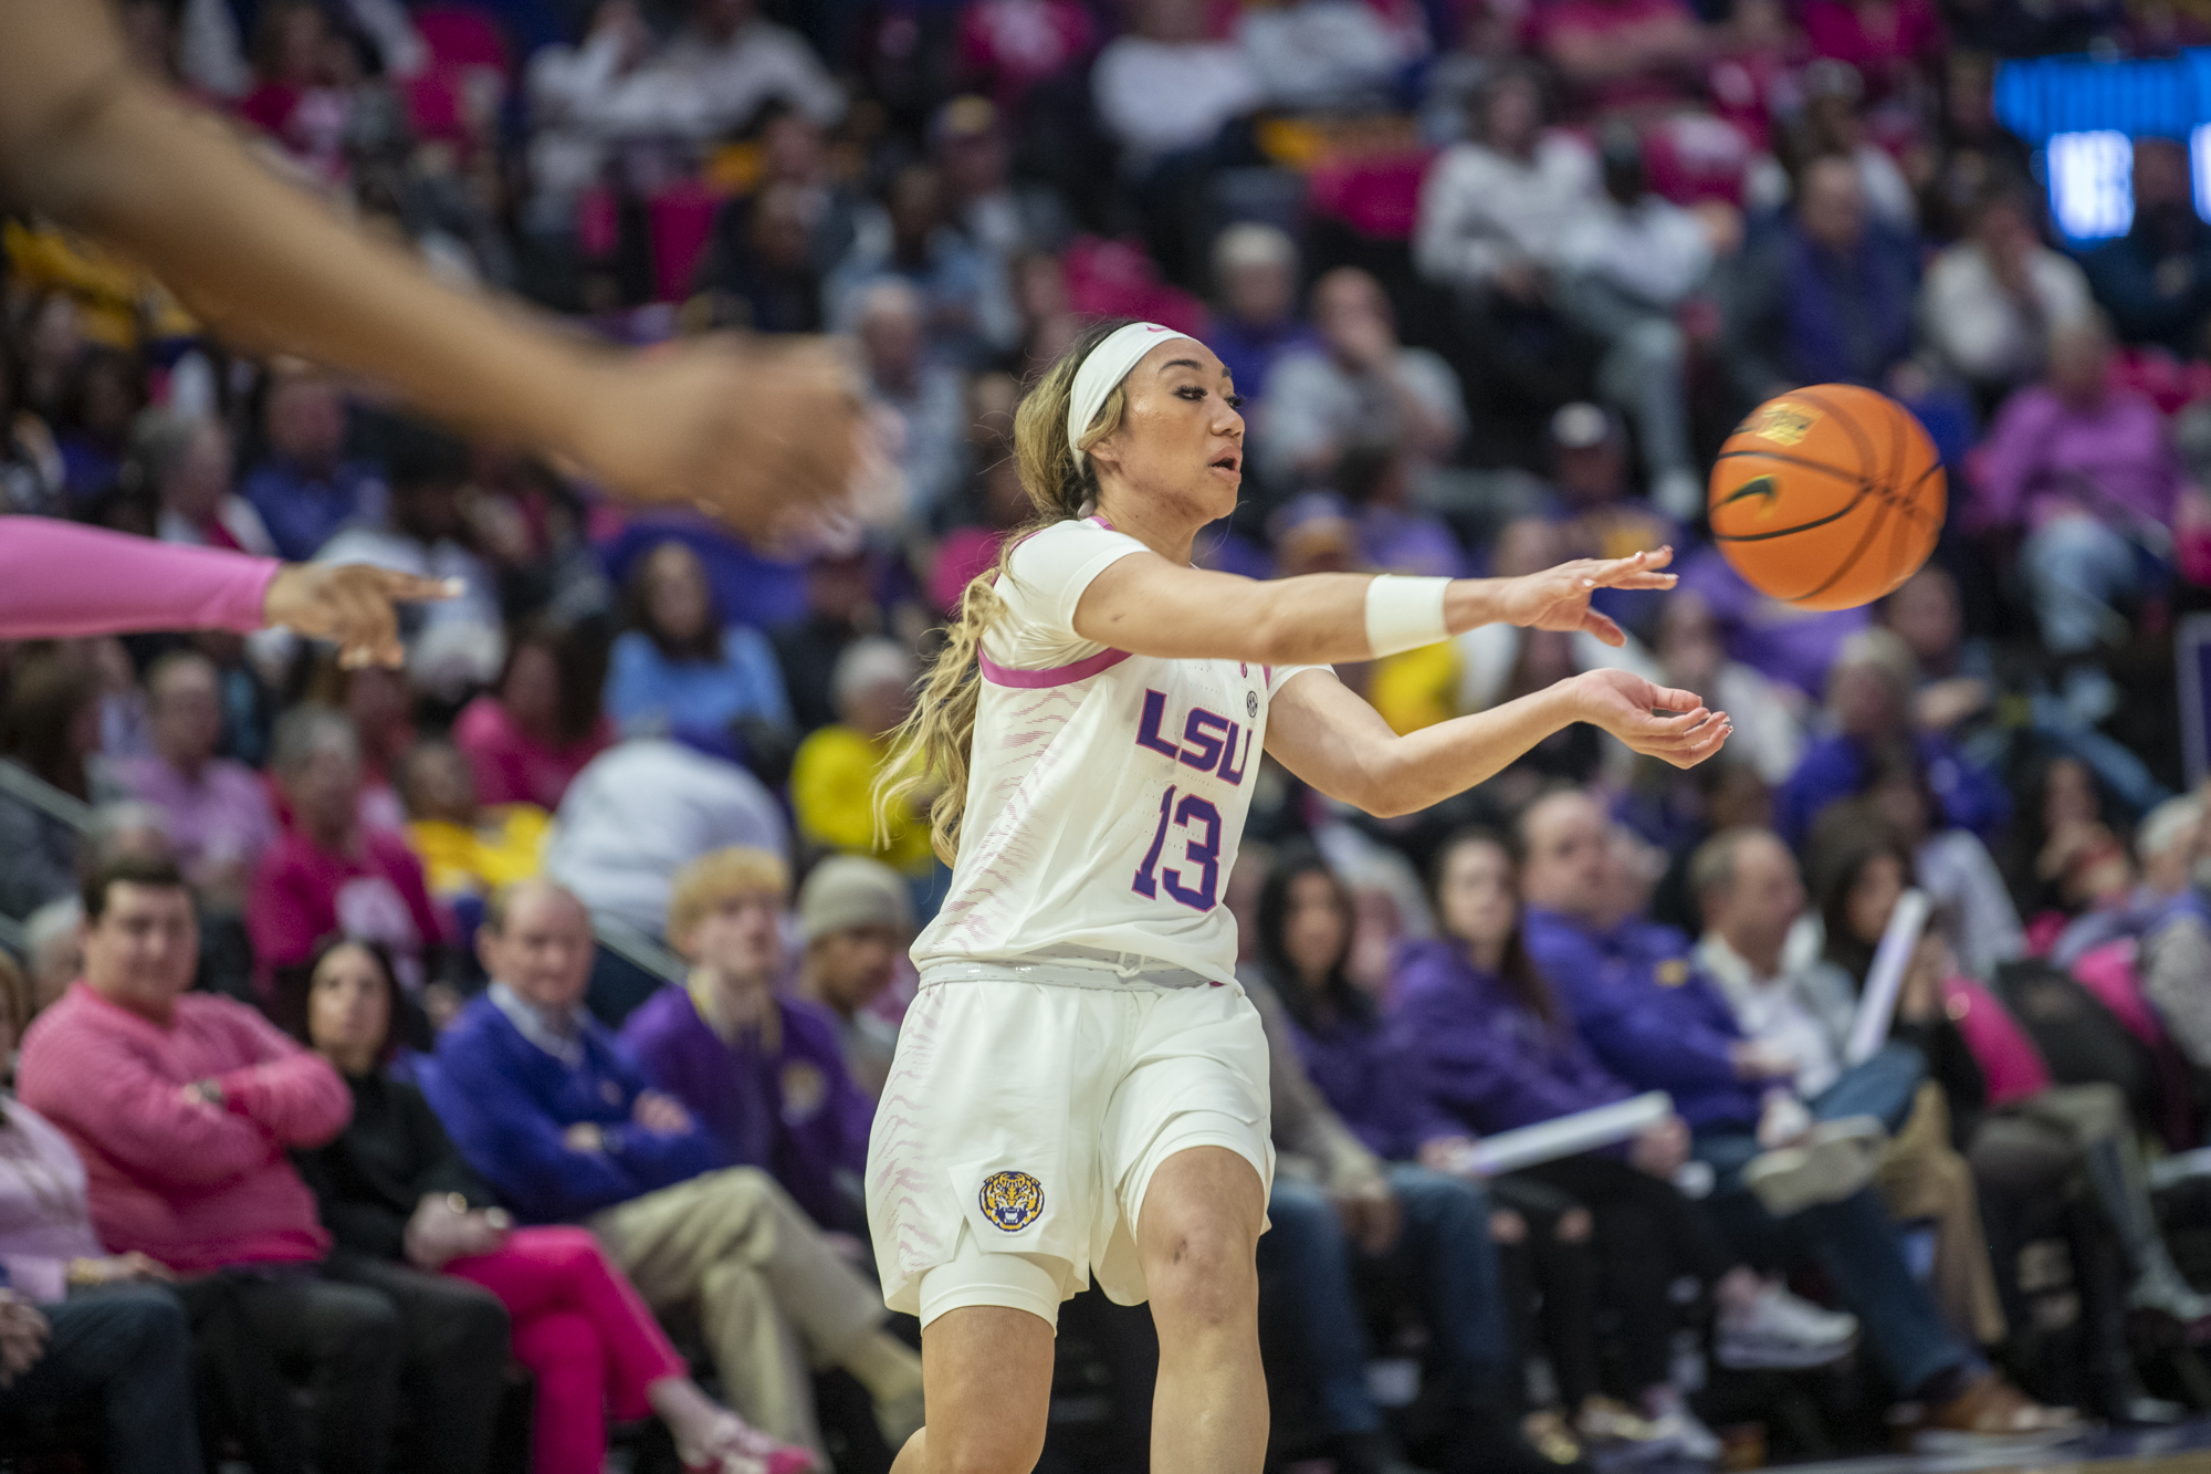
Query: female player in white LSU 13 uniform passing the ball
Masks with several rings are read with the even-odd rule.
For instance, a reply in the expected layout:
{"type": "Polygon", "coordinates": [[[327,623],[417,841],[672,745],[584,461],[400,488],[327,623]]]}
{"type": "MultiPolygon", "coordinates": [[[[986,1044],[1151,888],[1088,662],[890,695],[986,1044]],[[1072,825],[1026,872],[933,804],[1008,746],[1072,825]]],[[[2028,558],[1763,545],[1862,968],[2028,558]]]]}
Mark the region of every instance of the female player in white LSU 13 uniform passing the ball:
{"type": "Polygon", "coordinates": [[[902,730],[902,759],[942,783],[931,821],[955,868],[869,1144],[884,1295],[922,1317],[929,1428],[898,1474],[1035,1465],[1059,1301],[1092,1273],[1152,1301],[1152,1470],[1260,1467],[1267,1042],[1220,905],[1260,752],[1402,814],[1570,722],[1680,766],[1729,733],[1621,671],[1391,733],[1327,662],[1490,620],[1618,644],[1590,593],[1672,587],[1672,553],[1523,580],[1194,569],[1192,538],[1236,507],[1236,403],[1203,343],[1086,332],[1015,416],[1039,520],[968,584],[902,730]]]}

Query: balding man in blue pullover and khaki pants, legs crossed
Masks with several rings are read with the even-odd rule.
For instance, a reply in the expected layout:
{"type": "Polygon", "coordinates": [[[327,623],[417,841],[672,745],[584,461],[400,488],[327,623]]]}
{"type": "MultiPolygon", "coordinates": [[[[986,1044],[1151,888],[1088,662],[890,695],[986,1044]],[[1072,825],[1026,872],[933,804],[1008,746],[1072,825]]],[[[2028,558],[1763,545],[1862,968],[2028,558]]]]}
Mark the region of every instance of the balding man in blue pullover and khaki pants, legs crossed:
{"type": "Polygon", "coordinates": [[[842,1366],[876,1401],[891,1447],[922,1421],[922,1363],[884,1308],[776,1180],[710,1171],[714,1142],[652,1089],[584,1007],[584,903],[524,881],[484,907],[491,987],[440,1036],[425,1093],[469,1166],[522,1222],[581,1219],[663,1319],[705,1332],[730,1405],[814,1450],[814,1368],[842,1366]]]}

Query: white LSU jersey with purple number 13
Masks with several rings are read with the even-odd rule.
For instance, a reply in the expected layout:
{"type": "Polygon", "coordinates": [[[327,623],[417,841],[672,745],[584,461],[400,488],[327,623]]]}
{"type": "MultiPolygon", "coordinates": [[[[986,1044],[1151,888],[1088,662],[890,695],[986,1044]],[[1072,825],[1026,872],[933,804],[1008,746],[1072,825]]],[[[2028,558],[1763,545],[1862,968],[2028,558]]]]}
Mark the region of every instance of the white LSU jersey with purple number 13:
{"type": "Polygon", "coordinates": [[[1015,549],[997,584],[1004,611],[982,640],[960,861],[913,943],[918,967],[1097,947],[1234,983],[1223,890],[1267,699],[1327,666],[1161,660],[1081,640],[1083,589],[1139,551],[1101,518],[1015,549]]]}

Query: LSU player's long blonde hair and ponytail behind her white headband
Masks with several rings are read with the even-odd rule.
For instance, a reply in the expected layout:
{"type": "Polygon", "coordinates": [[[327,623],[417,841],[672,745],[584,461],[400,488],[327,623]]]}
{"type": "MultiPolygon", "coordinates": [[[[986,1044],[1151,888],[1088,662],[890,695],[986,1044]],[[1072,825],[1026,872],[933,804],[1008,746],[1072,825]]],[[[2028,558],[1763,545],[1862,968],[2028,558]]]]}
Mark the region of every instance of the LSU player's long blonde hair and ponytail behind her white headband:
{"type": "Polygon", "coordinates": [[[1081,445],[1068,440],[1068,398],[1075,394],[1075,370],[1083,365],[1090,350],[1128,323],[1125,316],[1112,316],[1086,328],[1013,412],[1013,458],[1021,469],[1021,489],[1028,491],[1037,516],[1006,538],[995,567],[968,580],[960,595],[960,609],[944,631],[944,646],[922,675],[913,710],[891,733],[891,757],[882,764],[882,777],[876,779],[878,845],[889,843],[887,814],[893,803],[909,795],[933,792],[929,845],[946,865],[960,859],[968,748],[975,741],[975,702],[982,697],[982,673],[975,657],[982,653],[984,631],[1004,611],[997,580],[1008,575],[1006,564],[1021,538],[1057,522],[1075,522],[1097,505],[1097,469],[1088,456],[1075,451],[1088,451],[1121,427],[1128,390],[1114,385],[1106,403],[1099,405],[1097,418],[1090,421],[1090,429],[1081,434],[1081,445]]]}

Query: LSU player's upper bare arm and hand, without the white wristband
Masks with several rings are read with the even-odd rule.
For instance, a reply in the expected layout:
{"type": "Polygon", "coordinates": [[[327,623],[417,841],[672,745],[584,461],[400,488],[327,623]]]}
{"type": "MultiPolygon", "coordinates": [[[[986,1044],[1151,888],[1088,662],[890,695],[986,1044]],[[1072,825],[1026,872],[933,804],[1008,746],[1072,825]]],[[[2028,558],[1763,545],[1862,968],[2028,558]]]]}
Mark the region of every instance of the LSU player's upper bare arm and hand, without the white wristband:
{"type": "MultiPolygon", "coordinates": [[[[1623,644],[1621,626],[1590,609],[1599,589],[1672,589],[1674,549],[1634,558],[1579,558],[1526,578],[1455,578],[1444,591],[1448,633],[1479,624],[1590,631],[1623,644]]],[[[1130,553],[1099,573],[1075,606],[1075,633],[1132,655],[1249,660],[1267,666],[1373,660],[1366,637],[1371,573],[1256,580],[1130,553]]]]}

